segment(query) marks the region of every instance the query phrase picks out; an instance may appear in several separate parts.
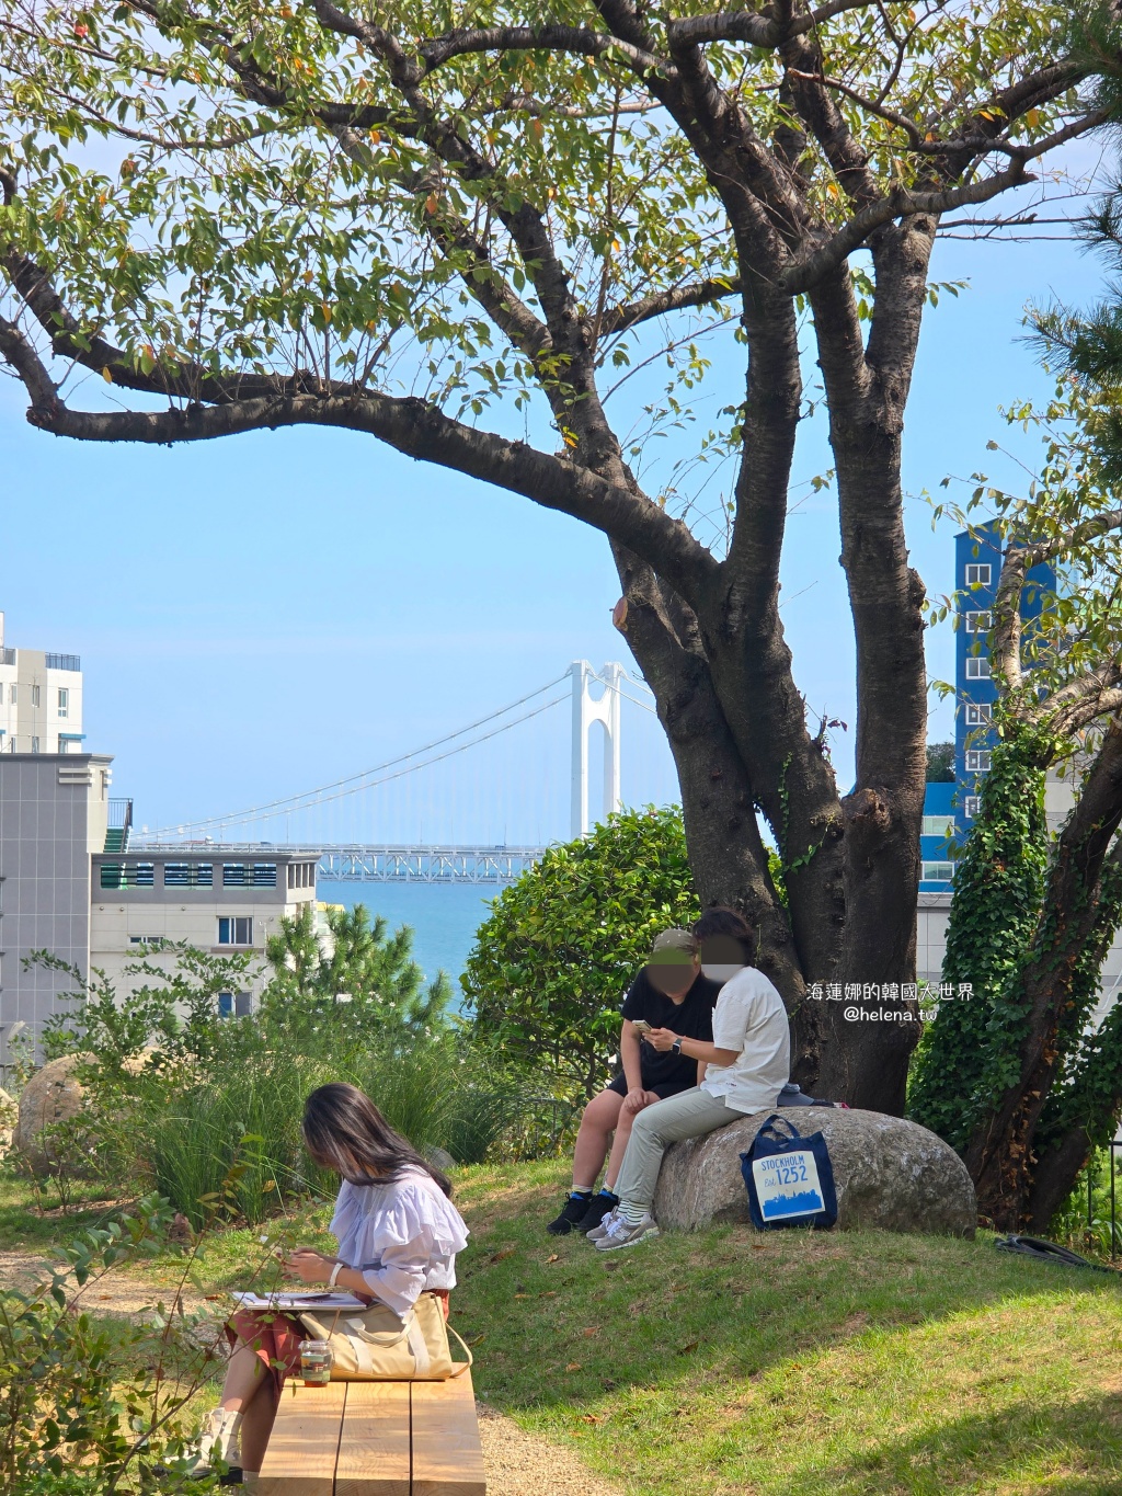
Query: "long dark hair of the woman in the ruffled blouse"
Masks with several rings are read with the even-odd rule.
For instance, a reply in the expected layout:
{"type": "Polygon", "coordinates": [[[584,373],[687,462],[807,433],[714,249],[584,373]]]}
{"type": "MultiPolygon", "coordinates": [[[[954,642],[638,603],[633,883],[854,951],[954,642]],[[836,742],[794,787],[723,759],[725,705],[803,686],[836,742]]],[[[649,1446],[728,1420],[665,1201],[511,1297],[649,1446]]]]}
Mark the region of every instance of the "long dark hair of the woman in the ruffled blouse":
{"type": "Polygon", "coordinates": [[[304,1103],[304,1143],[323,1168],[352,1185],[392,1185],[407,1168],[420,1168],[452,1194],[450,1180],[395,1132],[365,1091],[332,1080],[304,1103]]]}

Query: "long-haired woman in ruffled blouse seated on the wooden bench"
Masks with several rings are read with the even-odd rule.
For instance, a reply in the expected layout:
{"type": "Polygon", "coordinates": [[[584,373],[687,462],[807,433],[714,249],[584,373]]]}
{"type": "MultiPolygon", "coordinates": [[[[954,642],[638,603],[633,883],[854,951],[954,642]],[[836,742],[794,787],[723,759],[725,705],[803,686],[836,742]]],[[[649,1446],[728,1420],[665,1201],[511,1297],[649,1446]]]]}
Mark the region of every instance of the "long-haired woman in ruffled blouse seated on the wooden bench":
{"type": "MultiPolygon", "coordinates": [[[[420,1294],[441,1300],[456,1285],[455,1261],[468,1230],[449,1198],[452,1185],[386,1122],[358,1086],[332,1082],[304,1103],[304,1144],[343,1180],[331,1233],[338,1257],[301,1246],[284,1266],[305,1284],[380,1300],[404,1316],[420,1294]]],[[[284,1378],[299,1369],[305,1331],[295,1315],[239,1312],[226,1327],[232,1354],[220,1405],[208,1415],[196,1475],[214,1469],[215,1451],[257,1478],[284,1378]],[[238,1456],[238,1442],[241,1456],[238,1456]]]]}

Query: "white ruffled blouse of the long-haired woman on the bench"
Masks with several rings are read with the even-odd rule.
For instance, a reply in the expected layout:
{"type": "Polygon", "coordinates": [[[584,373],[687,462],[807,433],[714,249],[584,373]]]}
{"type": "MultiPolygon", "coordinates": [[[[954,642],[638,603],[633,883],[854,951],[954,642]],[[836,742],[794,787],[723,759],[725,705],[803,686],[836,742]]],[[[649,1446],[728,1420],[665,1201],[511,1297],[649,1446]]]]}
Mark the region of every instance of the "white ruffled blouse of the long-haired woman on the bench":
{"type": "Polygon", "coordinates": [[[426,1288],[456,1287],[456,1252],[468,1239],[459,1210],[420,1168],[407,1168],[392,1185],[344,1179],[331,1233],[340,1261],[358,1269],[396,1315],[426,1288]]]}

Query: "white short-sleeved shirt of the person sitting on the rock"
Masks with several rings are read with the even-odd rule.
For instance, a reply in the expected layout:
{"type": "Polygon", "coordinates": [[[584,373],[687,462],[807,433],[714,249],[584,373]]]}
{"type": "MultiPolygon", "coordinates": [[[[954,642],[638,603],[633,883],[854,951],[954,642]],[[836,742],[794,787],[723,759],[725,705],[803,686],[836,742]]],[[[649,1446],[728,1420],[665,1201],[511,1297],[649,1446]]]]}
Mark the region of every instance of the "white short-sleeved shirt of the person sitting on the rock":
{"type": "Polygon", "coordinates": [[[736,1059],[711,1064],[702,1091],[723,1097],[735,1112],[773,1107],[791,1076],[791,1031],[782,998],[755,966],[742,966],[721,987],[714,1044],[736,1050],[736,1059]]]}

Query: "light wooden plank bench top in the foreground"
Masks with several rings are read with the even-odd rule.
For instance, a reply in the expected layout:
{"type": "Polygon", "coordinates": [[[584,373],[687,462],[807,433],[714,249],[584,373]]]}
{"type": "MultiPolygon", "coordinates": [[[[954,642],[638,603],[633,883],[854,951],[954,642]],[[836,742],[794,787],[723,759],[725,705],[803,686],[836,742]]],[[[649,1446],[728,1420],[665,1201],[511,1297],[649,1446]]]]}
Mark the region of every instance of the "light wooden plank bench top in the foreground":
{"type": "Polygon", "coordinates": [[[259,1496],[486,1496],[471,1372],[446,1382],[290,1381],[259,1496]]]}

